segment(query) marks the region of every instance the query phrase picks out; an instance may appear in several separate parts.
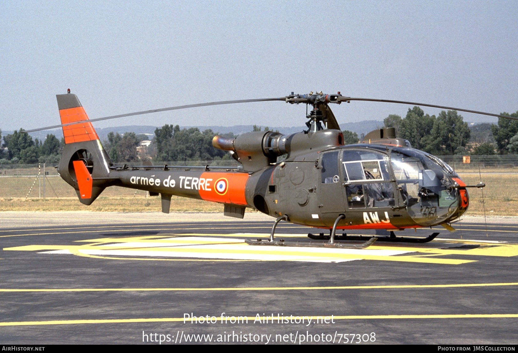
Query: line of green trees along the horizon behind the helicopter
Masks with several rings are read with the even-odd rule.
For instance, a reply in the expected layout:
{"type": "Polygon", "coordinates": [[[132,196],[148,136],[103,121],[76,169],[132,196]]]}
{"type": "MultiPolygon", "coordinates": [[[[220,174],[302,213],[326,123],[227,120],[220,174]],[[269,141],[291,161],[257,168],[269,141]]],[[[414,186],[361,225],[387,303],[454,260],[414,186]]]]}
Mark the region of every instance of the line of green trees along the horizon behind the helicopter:
{"type": "MultiPolygon", "coordinates": [[[[518,119],[518,111],[506,115],[518,119]]],[[[389,115],[383,120],[385,127],[394,127],[396,136],[406,138],[413,148],[431,154],[518,154],[518,120],[499,118],[498,124],[483,123],[471,128],[455,110],[441,111],[435,115],[425,114],[420,107],[408,109],[405,118],[389,115]]],[[[268,127],[263,131],[268,131],[268,127]]],[[[44,141],[33,138],[23,129],[3,136],[0,146],[0,164],[57,163],[60,160],[64,140],[48,134],[44,141]]],[[[262,131],[254,125],[253,131],[262,131]]],[[[212,147],[216,135],[208,129],[180,129],[179,125],[164,125],[155,130],[152,143],[141,144],[146,135],[133,132],[124,134],[110,132],[103,146],[114,163],[155,161],[196,161],[231,159],[226,151],[212,147]]],[[[223,134],[234,138],[232,133],[223,134]]],[[[344,142],[355,144],[361,138],[355,132],[343,131],[344,142]]],[[[0,141],[2,130],[0,130],[0,141]]]]}

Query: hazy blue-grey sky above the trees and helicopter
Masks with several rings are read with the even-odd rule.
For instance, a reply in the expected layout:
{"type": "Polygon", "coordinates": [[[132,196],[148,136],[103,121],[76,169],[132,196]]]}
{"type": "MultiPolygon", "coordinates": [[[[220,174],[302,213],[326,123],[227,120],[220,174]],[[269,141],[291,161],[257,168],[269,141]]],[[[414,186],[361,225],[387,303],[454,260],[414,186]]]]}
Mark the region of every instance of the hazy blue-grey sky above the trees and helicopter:
{"type": "MultiPolygon", "coordinates": [[[[515,1],[44,3],[1,2],[0,129],[59,123],[55,94],[67,88],[90,118],[320,90],[518,110],[515,1]]],[[[345,122],[405,116],[408,106],[332,108],[345,122]]],[[[95,126],[302,126],[305,112],[249,103],[95,126]]]]}

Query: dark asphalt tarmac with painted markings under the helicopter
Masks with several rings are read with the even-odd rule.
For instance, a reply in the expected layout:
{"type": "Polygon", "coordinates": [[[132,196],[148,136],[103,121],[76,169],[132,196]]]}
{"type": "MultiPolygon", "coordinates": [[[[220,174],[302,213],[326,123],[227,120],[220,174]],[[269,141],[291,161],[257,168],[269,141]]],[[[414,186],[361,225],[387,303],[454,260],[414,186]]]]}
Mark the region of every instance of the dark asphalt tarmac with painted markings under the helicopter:
{"type": "MultiPolygon", "coordinates": [[[[362,250],[243,242],[273,221],[2,213],[0,342],[518,344],[515,218],[362,250]]],[[[308,231],[281,222],[276,237],[308,231]]]]}

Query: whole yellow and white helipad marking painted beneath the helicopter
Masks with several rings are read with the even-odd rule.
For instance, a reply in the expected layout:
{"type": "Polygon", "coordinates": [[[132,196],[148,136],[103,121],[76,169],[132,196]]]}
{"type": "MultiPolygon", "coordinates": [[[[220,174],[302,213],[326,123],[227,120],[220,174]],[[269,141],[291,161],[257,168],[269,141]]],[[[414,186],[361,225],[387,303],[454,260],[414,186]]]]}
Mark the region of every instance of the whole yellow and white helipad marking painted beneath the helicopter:
{"type": "MultiPolygon", "coordinates": [[[[438,264],[463,264],[471,259],[448,259],[443,256],[517,256],[518,245],[499,244],[489,246],[479,242],[474,249],[455,248],[458,244],[431,242],[414,246],[394,244],[376,246],[367,249],[340,248],[294,248],[294,247],[255,247],[235,238],[242,234],[207,234],[146,235],[126,237],[105,237],[79,241],[91,243],[83,245],[29,245],[5,248],[4,250],[43,251],[44,253],[68,253],[85,257],[118,259],[219,259],[219,260],[256,260],[256,261],[304,261],[304,262],[344,262],[353,260],[378,260],[398,262],[420,262],[438,264]],[[439,249],[441,247],[442,249],[439,249]],[[444,249],[446,247],[446,249],[444,249]],[[449,248],[448,248],[449,247],[449,248]],[[412,253],[412,255],[407,255],[412,253]],[[397,255],[397,256],[395,256],[397,255]]],[[[267,237],[268,234],[254,234],[267,237]]],[[[248,235],[251,236],[251,235],[248,235]]],[[[284,236],[300,236],[285,234],[284,236]]],[[[461,242],[462,243],[462,242],[461,242]]],[[[192,260],[196,261],[196,260],[192,260]]]]}

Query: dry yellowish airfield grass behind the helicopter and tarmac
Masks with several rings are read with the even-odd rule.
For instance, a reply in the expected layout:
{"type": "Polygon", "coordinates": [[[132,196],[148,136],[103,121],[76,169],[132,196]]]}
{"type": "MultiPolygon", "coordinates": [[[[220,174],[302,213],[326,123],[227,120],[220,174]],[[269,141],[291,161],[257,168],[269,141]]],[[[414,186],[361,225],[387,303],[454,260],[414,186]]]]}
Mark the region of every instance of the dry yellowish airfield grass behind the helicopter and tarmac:
{"type": "MultiPolygon", "coordinates": [[[[480,181],[478,173],[459,173],[467,185],[480,181]]],[[[34,183],[34,177],[0,178],[0,211],[116,211],[116,212],[159,212],[160,196],[148,196],[141,190],[120,187],[107,188],[90,206],[81,204],[75,191],[59,177],[46,180],[45,198],[41,183],[36,182],[29,197],[27,192],[34,183]]],[[[467,216],[518,216],[518,173],[482,173],[486,187],[470,188],[467,216]],[[482,191],[483,196],[482,198],[482,191]]],[[[223,205],[201,200],[172,196],[171,211],[219,212],[223,205]]]]}

